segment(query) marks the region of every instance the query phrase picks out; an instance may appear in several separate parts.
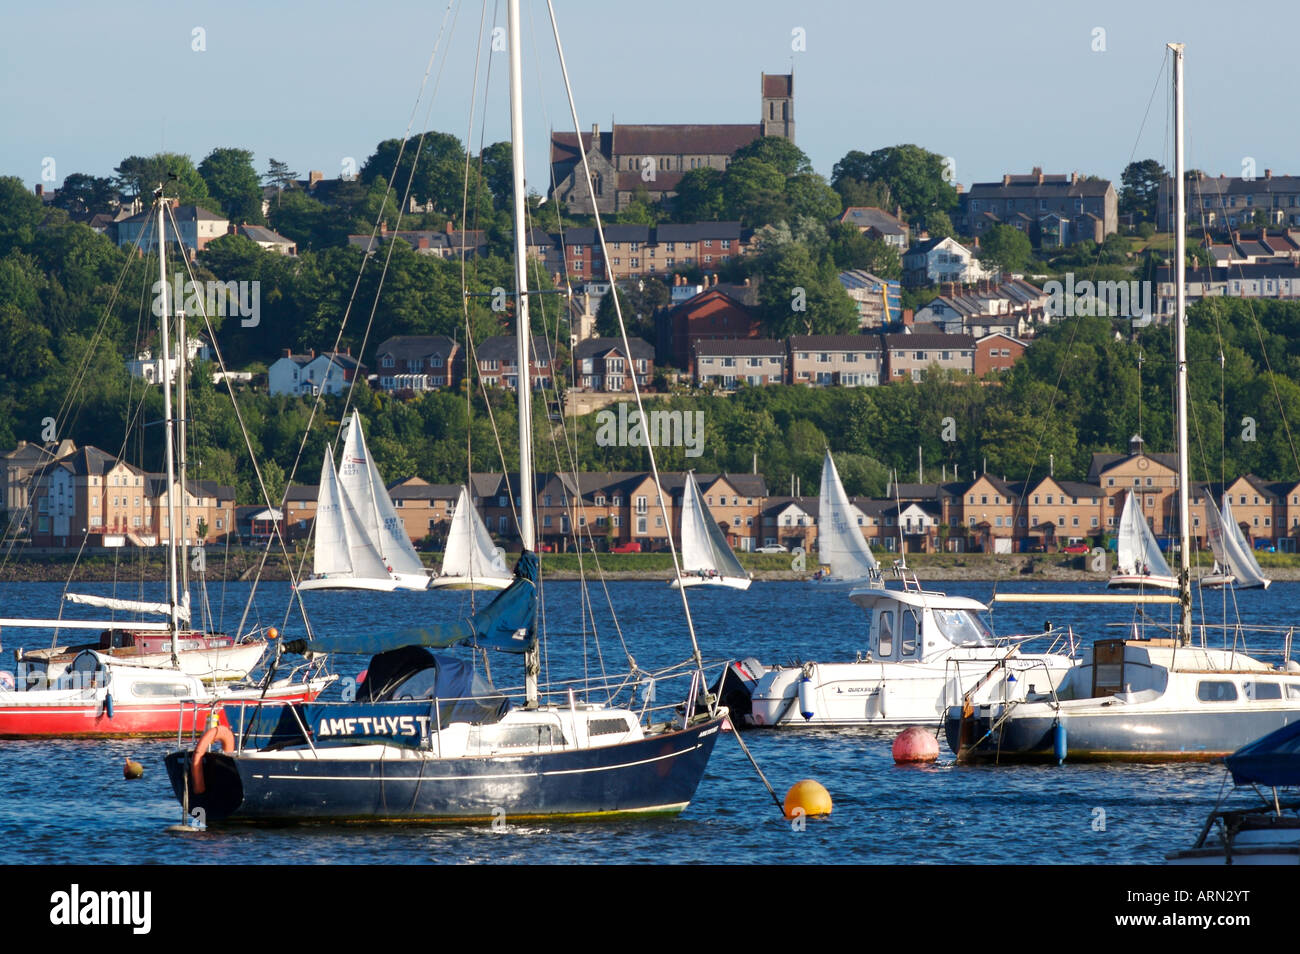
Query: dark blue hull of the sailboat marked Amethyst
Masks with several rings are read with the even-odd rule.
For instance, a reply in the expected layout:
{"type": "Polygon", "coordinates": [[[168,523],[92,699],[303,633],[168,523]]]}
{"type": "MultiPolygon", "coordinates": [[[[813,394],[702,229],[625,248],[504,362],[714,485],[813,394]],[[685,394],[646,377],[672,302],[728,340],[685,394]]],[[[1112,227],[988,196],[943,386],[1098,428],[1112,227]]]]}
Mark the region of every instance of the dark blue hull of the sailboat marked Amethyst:
{"type": "MultiPolygon", "coordinates": [[[[177,798],[221,821],[491,821],[676,814],[703,777],[723,717],[638,742],[458,759],[285,758],[209,753],[194,794],[192,753],[172,753],[177,798]]],[[[338,750],[334,750],[335,753],[338,750]]]]}

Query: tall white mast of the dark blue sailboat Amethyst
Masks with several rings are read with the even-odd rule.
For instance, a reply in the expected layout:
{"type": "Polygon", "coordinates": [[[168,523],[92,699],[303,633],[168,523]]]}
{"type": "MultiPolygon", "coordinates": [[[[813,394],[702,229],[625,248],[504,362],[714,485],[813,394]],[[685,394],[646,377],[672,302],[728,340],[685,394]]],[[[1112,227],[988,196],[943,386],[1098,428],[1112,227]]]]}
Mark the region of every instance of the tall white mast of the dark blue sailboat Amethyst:
{"type": "MultiPolygon", "coordinates": [[[[536,548],[533,539],[533,385],[528,346],[532,325],[528,320],[528,237],[524,212],[524,78],[520,52],[519,0],[510,0],[510,151],[515,195],[515,391],[519,395],[519,539],[524,551],[536,548]]],[[[534,645],[524,655],[524,694],[529,707],[537,706],[537,676],[541,672],[541,650],[534,645]]]]}

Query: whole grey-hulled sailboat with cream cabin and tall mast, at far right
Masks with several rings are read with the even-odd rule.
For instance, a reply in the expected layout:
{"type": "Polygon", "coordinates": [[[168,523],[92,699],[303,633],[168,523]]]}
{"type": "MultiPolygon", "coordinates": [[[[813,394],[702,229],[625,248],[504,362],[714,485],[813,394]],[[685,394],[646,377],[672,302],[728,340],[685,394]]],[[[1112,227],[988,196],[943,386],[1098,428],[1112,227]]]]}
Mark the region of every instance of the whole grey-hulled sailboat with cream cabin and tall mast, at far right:
{"type": "Polygon", "coordinates": [[[1171,638],[1097,639],[1052,693],[949,708],[944,729],[959,760],[1210,759],[1300,719],[1300,664],[1286,654],[1278,665],[1269,665],[1235,647],[1208,649],[1204,629],[1201,645],[1192,643],[1183,44],[1169,48],[1174,53],[1178,597],[1135,599],[1176,602],[1178,628],[1171,638]]]}

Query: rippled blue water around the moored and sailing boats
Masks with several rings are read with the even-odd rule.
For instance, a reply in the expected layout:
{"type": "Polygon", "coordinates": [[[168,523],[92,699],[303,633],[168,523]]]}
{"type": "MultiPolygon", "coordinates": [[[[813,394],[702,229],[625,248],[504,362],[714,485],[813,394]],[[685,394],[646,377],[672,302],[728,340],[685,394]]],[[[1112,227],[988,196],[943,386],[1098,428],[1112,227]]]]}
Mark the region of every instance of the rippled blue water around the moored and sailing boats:
{"type": "MultiPolygon", "coordinates": [[[[933,584],[952,594],[988,599],[991,584],[933,584]]],[[[79,587],[110,593],[108,585],[79,587]]],[[[1097,590],[1096,585],[1004,584],[1008,590],[1097,590]]],[[[0,615],[57,612],[57,584],[0,586],[0,615]]],[[[680,597],[664,584],[611,582],[610,597],[642,668],[689,654],[680,597]]],[[[797,582],[755,582],[748,593],[692,591],[690,607],[706,658],[758,656],[763,662],[853,659],[864,650],[862,615],[844,590],[797,582]]],[[[211,589],[214,611],[234,629],[247,585],[211,589]]],[[[134,595],[120,591],[118,595],[134,595]]],[[[312,593],[321,632],[382,632],[468,610],[468,594],[393,595],[312,593]]],[[[482,600],[482,594],[478,595],[482,600]]],[[[604,595],[592,587],[603,607],[604,595]]],[[[1231,598],[1230,598],[1231,599],[1231,598]]],[[[1266,594],[1238,594],[1242,619],[1295,619],[1300,584],[1275,584],[1266,594]]],[[[289,600],[283,584],[259,587],[250,619],[281,625],[289,600]]],[[[1222,619],[1222,595],[1206,607],[1222,619]]],[[[582,675],[578,584],[546,585],[549,662],[555,677],[582,675]]],[[[1149,612],[1167,619],[1167,608],[1149,612]]],[[[1008,604],[994,616],[1000,634],[1037,632],[1046,619],[1072,625],[1084,639],[1123,630],[1131,607],[1008,604]]],[[[72,612],[69,613],[72,615],[72,612]]],[[[598,616],[601,649],[611,671],[625,667],[608,613],[598,616]]],[[[302,634],[300,621],[285,626],[302,634]]],[[[6,630],[5,659],[35,646],[42,633],[6,630]]],[[[588,647],[593,647],[588,634],[588,647]]],[[[1217,645],[1213,639],[1210,645],[1217,645]]],[[[1278,649],[1282,636],[1249,649],[1278,649]]],[[[594,651],[592,672],[598,672],[594,651]]],[[[343,675],[364,659],[339,659],[343,675]]],[[[514,658],[494,655],[498,684],[517,680],[514,658]]],[[[1222,766],[1001,766],[958,767],[946,746],[940,762],[896,767],[896,730],[750,732],[745,736],[780,795],[812,777],[831,792],[829,819],[792,831],[762,788],[738,745],[718,741],[694,802],[680,818],[590,824],[477,827],[299,827],[168,833],[181,808],[172,795],[164,755],[173,741],[0,742],[0,863],[1160,863],[1190,846],[1218,797],[1222,766]],[[127,782],[122,763],[144,764],[127,782]]]]}

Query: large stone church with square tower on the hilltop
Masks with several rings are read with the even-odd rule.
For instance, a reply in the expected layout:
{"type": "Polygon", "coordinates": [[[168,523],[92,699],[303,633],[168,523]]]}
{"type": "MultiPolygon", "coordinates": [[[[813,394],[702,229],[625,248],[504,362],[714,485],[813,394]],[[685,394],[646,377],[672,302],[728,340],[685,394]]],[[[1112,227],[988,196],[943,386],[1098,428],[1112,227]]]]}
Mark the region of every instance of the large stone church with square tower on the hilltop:
{"type": "Polygon", "coordinates": [[[610,130],[593,125],[582,134],[592,168],[594,200],[582,181],[581,153],[573,133],[551,135],[549,198],[575,214],[619,212],[634,198],[659,201],[672,196],[692,169],[723,170],[736,149],[760,136],[794,142],[794,74],[759,77],[760,120],[757,123],[627,125],[610,130]]]}

